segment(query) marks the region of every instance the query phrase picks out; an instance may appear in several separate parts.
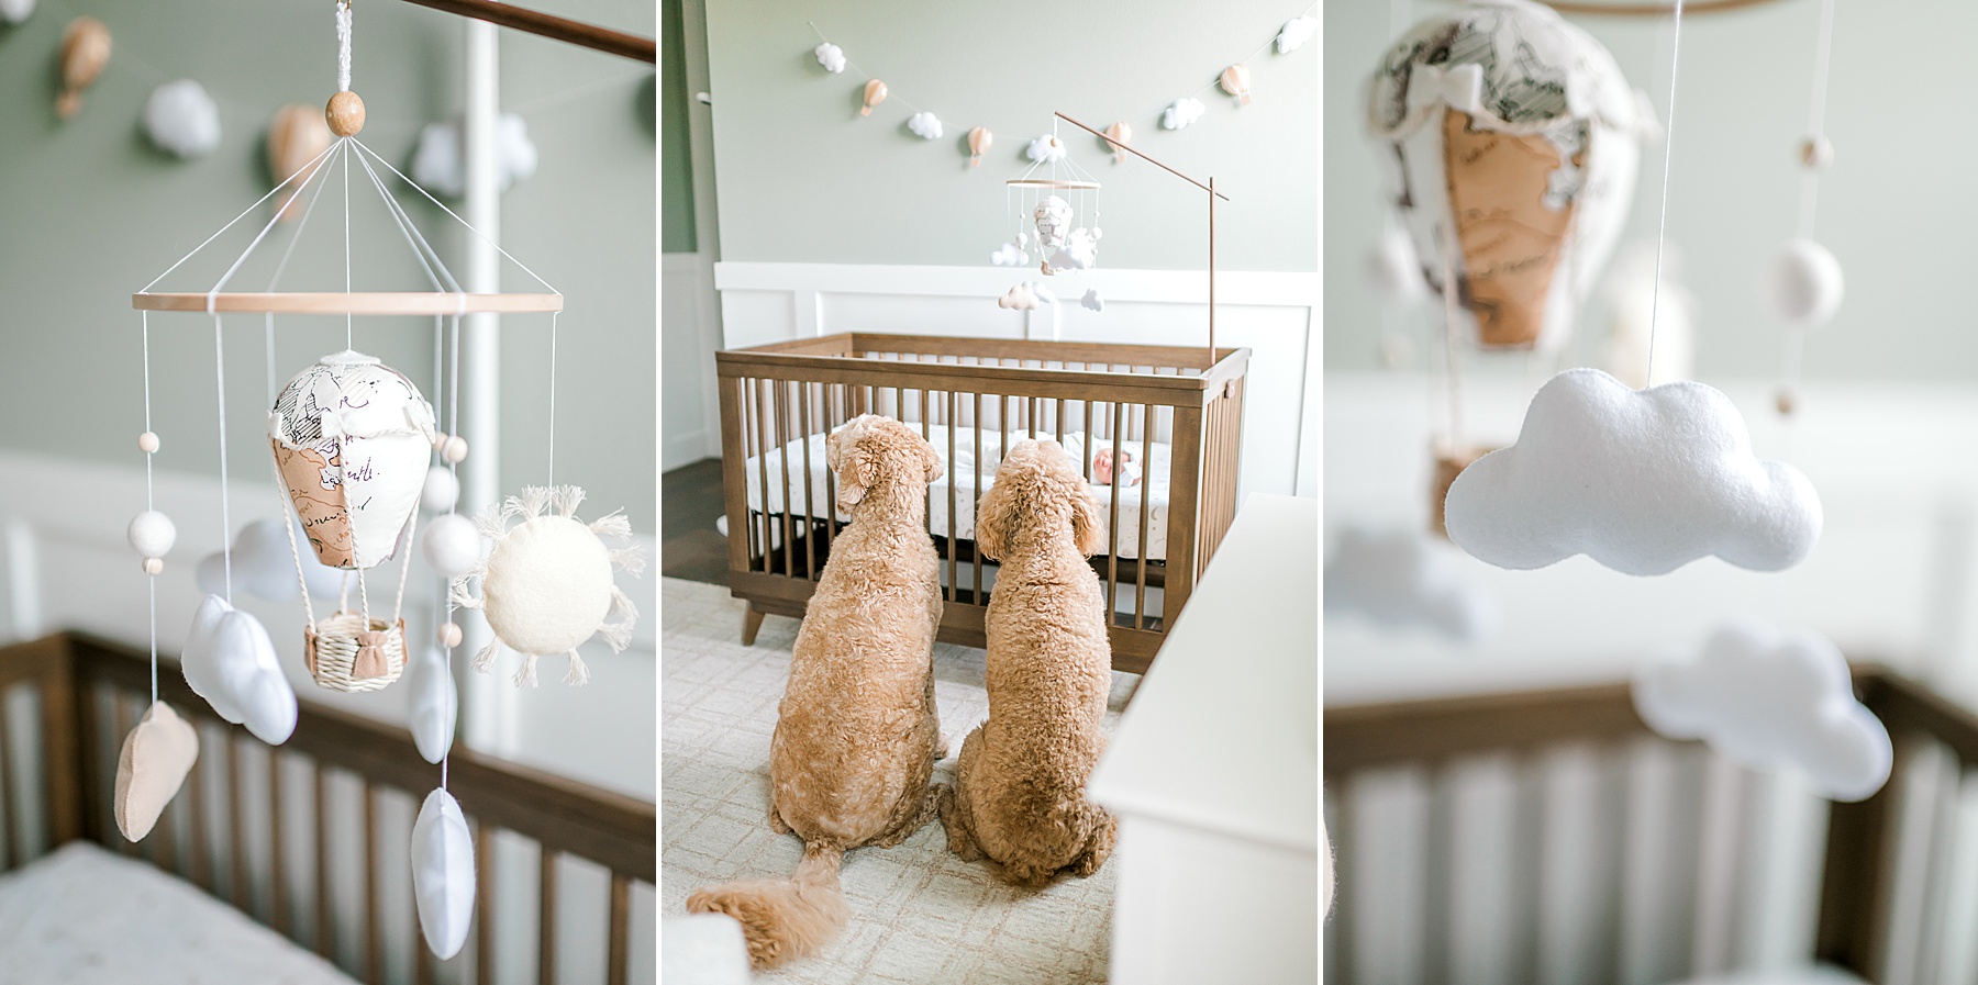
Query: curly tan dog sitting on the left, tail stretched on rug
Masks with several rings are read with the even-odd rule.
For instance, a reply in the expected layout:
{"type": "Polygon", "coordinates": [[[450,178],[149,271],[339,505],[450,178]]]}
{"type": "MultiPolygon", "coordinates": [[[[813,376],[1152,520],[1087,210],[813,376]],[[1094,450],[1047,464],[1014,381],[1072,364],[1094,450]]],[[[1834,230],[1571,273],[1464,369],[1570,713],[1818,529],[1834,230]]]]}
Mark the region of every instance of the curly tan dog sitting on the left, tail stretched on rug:
{"type": "Polygon", "coordinates": [[[803,862],[787,880],[686,900],[740,920],[756,967],[811,953],[845,926],[845,852],[898,845],[932,821],[928,781],[945,756],[934,716],[942,583],[926,514],[942,459],[904,423],[868,413],[831,433],[825,461],[851,524],[797,629],[769,740],[769,827],[803,839],[803,862]]]}

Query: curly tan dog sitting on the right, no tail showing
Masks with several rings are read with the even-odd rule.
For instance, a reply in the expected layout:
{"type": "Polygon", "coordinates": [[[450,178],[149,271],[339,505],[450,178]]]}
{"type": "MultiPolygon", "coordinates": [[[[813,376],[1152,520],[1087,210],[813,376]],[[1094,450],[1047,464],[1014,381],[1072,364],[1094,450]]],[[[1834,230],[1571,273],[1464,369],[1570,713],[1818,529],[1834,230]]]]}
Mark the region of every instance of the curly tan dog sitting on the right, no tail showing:
{"type": "Polygon", "coordinates": [[[1019,441],[983,494],[975,546],[1001,560],[989,595],[989,720],[942,785],[947,847],[1040,886],[1090,876],[1112,852],[1114,817],[1086,799],[1106,748],[1112,690],[1106,593],[1086,558],[1106,546],[1078,463],[1056,441],[1019,441]]]}

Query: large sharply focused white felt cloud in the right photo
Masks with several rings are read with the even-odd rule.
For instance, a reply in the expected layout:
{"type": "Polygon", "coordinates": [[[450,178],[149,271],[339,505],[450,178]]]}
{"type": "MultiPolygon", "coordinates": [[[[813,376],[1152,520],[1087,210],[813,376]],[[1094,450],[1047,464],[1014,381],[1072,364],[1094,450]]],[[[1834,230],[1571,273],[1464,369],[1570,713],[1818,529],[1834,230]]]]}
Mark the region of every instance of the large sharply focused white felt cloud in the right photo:
{"type": "Polygon", "coordinates": [[[1760,461],[1731,398],[1693,382],[1630,390],[1567,370],[1531,398],[1517,443],[1450,485],[1450,540],[1499,568],[1574,554],[1634,576],[1715,554],[1739,568],[1800,564],[1820,540],[1820,496],[1760,461]]]}

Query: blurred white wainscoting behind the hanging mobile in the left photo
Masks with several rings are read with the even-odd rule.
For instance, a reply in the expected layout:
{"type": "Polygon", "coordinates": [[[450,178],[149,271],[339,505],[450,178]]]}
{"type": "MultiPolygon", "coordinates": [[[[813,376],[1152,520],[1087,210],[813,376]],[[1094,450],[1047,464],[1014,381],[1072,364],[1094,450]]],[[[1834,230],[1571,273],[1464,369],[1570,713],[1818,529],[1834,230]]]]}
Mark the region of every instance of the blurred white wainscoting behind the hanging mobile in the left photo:
{"type": "MultiPolygon", "coordinates": [[[[136,457],[136,453],[133,453],[136,457]]],[[[247,471],[261,475],[263,465],[247,471]]],[[[231,483],[231,522],[279,516],[271,483],[231,483]]],[[[103,465],[75,459],[0,451],[0,643],[16,643],[63,629],[79,629],[136,647],[148,641],[148,593],[138,558],[125,542],[125,526],[144,508],[142,465],[103,465]]],[[[156,508],[178,526],[178,542],[158,576],[158,649],[176,655],[184,645],[192,611],[200,603],[194,568],[220,550],[220,481],[216,477],[160,471],[156,508]]],[[[655,538],[639,534],[647,558],[655,538]]],[[[396,587],[396,570],[388,580],[396,587]]],[[[491,716],[498,744],[485,752],[524,761],[560,775],[584,779],[635,797],[655,799],[655,676],[657,676],[657,576],[621,576],[627,595],[639,605],[633,645],[611,653],[601,643],[584,647],[591,682],[564,686],[564,667],[548,659],[542,686],[514,688],[508,676],[516,657],[496,665],[491,706],[471,702],[473,688],[461,688],[463,716],[491,716]]],[[[374,599],[390,589],[372,585],[374,599]]],[[[433,603],[439,576],[423,558],[411,566],[405,589],[405,627],[413,645],[433,639],[433,603]]],[[[237,593],[233,599],[267,627],[283,669],[301,698],[330,704],[384,722],[404,722],[405,690],[336,694],[315,686],[303,669],[303,603],[271,603],[237,593]]],[[[380,601],[380,605],[390,605],[380,601]]],[[[318,601],[326,615],[334,603],[318,601]]],[[[461,611],[457,619],[479,619],[461,611]]],[[[471,674],[467,653],[455,653],[455,674],[471,674]]],[[[435,769],[437,779],[437,769],[435,769]]]]}

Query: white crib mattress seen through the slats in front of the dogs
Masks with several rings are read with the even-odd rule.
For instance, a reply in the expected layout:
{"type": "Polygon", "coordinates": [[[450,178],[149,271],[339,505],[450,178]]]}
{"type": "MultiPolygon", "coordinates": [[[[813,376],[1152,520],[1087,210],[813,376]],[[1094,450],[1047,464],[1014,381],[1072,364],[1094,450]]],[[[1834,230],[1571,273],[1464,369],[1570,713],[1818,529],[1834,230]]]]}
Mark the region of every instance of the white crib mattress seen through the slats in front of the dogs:
{"type": "MultiPolygon", "coordinates": [[[[918,425],[914,425],[918,429],[918,425]]],[[[975,453],[977,431],[973,427],[955,427],[955,461],[947,469],[947,475],[932,483],[934,502],[928,512],[928,530],[936,536],[947,536],[947,492],[953,489],[955,498],[955,536],[961,540],[975,538],[975,498],[987,492],[995,485],[995,471],[1003,465],[1003,433],[983,429],[981,431],[981,455],[975,453]],[[975,487],[977,463],[981,471],[981,489],[975,487]]],[[[1011,431],[1011,443],[1027,439],[1029,433],[1011,431]]],[[[1054,437],[1054,435],[1038,435],[1054,437]]],[[[947,463],[947,425],[928,425],[928,443],[934,451],[942,455],[942,463],[947,463]]],[[[1147,560],[1159,562],[1167,558],[1167,483],[1169,483],[1169,461],[1171,447],[1167,443],[1155,441],[1151,447],[1151,461],[1141,463],[1139,441],[1120,441],[1122,451],[1133,457],[1133,463],[1141,469],[1141,483],[1133,487],[1120,487],[1120,558],[1139,558],[1139,502],[1141,496],[1149,496],[1147,506],[1147,560]]],[[[1102,437],[1088,443],[1082,431],[1064,435],[1064,451],[1072,457],[1092,459],[1100,449],[1112,449],[1112,439],[1102,437]]],[[[791,500],[791,516],[815,516],[823,520],[831,512],[831,469],[825,467],[825,435],[811,435],[809,439],[795,439],[781,449],[769,451],[767,455],[754,455],[746,463],[746,487],[748,487],[748,506],[752,512],[783,514],[785,496],[791,500]],[[803,481],[791,479],[783,481],[783,459],[789,459],[789,471],[801,475],[805,469],[805,445],[809,445],[809,479],[811,494],[805,498],[803,481]],[[767,461],[765,461],[767,459],[767,461]],[[764,498],[764,469],[769,473],[769,494],[764,498]]],[[[1112,516],[1112,487],[1094,485],[1092,496],[1100,506],[1100,522],[1112,516]]],[[[845,512],[839,512],[839,522],[849,520],[845,512]]],[[[777,544],[781,544],[781,532],[773,532],[777,544]]]]}

